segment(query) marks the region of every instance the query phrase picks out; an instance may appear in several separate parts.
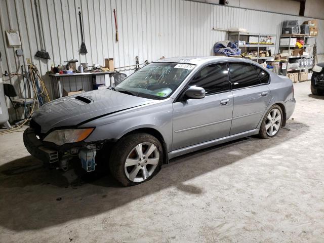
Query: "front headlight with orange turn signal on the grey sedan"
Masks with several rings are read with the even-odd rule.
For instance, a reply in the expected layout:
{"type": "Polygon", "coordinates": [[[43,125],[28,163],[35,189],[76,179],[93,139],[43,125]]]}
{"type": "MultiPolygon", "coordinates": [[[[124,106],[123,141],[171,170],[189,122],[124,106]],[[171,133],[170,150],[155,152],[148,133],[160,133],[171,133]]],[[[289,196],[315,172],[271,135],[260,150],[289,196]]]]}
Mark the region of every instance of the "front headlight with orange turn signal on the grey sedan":
{"type": "Polygon", "coordinates": [[[80,142],[85,140],[93,130],[94,128],[55,130],[47,135],[44,141],[52,142],[56,145],[80,142]]]}

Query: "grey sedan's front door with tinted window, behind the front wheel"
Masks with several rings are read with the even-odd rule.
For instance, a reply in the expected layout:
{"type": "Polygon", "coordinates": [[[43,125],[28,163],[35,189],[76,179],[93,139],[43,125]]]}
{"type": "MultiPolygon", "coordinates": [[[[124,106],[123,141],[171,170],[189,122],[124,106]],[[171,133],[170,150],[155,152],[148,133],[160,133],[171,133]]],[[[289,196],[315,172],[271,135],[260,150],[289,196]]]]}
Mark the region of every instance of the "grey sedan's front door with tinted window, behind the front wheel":
{"type": "Polygon", "coordinates": [[[233,95],[227,64],[202,68],[189,86],[204,88],[206,97],[173,103],[173,150],[228,136],[231,128],[233,95]]]}

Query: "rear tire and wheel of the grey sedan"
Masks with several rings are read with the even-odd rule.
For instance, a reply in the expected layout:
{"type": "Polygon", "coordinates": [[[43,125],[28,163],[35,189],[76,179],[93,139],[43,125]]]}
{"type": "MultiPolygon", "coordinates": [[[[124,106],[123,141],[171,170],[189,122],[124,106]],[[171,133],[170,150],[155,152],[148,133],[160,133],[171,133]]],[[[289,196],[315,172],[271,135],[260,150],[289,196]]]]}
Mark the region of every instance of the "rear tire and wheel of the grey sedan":
{"type": "Polygon", "coordinates": [[[263,117],[259,137],[260,138],[272,138],[274,137],[280,130],[282,125],[282,110],[280,106],[273,105],[267,111],[265,116],[263,117]],[[276,112],[276,113],[274,113],[276,112]],[[280,117],[279,117],[280,115],[280,117]],[[271,119],[270,119],[271,117],[271,119]],[[269,127],[270,126],[270,127],[269,127]],[[271,130],[272,129],[272,130],[271,130]]]}

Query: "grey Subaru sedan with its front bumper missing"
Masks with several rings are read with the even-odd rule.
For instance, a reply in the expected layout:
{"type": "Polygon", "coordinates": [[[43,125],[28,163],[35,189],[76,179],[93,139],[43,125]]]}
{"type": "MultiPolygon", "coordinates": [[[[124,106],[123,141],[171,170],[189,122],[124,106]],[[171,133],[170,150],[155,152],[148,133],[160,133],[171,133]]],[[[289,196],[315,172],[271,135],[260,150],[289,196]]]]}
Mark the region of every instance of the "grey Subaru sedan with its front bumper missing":
{"type": "Polygon", "coordinates": [[[295,108],[293,83],[256,62],[177,57],[152,62],[114,88],[43,105],[24,144],[49,165],[110,169],[124,186],[151,179],[169,159],[242,137],[271,138],[295,108]]]}

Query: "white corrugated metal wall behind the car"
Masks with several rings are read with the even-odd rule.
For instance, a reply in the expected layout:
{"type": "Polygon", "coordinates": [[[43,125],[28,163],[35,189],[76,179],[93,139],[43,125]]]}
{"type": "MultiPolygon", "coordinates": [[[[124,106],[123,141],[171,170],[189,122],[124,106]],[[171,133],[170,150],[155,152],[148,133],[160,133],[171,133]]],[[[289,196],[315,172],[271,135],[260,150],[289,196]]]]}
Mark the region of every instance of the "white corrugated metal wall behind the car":
{"type": "MultiPolygon", "coordinates": [[[[17,66],[31,58],[46,79],[51,64],[63,64],[69,59],[104,64],[113,57],[115,66],[127,66],[152,61],[161,56],[211,55],[213,45],[225,39],[225,32],[213,27],[246,28],[255,33],[280,34],[280,23],[287,19],[307,18],[211,5],[184,0],[41,0],[41,19],[45,46],[51,60],[35,58],[39,49],[34,0],[0,0],[1,68],[16,72],[17,66]],[[119,42],[115,42],[113,9],[117,10],[119,42]],[[78,11],[83,13],[87,55],[79,54],[80,31],[78,11]],[[19,30],[23,57],[17,57],[6,44],[5,30],[19,30]]],[[[319,22],[317,52],[324,53],[324,20],[319,22]]],[[[132,69],[123,70],[132,73],[132,69]]],[[[9,80],[23,93],[21,77],[9,80]]],[[[77,80],[74,80],[76,83],[77,80]]],[[[73,88],[73,87],[72,87],[73,88]]],[[[23,94],[22,94],[23,96],[23,94]]],[[[11,112],[12,113],[12,112],[11,112]]]]}

